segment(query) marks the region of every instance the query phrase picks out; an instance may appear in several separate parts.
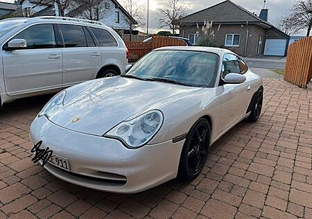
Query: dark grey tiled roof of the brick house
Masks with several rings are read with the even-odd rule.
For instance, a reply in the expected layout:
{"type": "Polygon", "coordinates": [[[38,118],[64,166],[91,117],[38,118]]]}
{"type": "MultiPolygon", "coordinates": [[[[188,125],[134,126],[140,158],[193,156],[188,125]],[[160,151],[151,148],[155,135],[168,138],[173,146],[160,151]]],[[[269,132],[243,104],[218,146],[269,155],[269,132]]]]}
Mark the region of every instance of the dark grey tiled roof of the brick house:
{"type": "Polygon", "coordinates": [[[272,28],[277,33],[289,38],[289,35],[279,30],[272,24],[254,15],[252,12],[237,5],[236,3],[226,0],[214,6],[200,10],[181,19],[177,19],[175,24],[202,24],[204,21],[213,21],[214,24],[259,24],[266,28],[272,28]]]}

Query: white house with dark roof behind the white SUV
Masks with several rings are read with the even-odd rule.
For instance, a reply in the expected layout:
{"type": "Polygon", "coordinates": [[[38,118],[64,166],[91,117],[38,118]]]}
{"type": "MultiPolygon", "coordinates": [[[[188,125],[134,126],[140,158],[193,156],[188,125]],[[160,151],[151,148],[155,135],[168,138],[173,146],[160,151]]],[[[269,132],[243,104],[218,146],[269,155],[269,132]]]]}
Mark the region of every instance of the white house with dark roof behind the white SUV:
{"type": "MultiPolygon", "coordinates": [[[[114,28],[121,33],[124,30],[130,30],[130,24],[136,25],[137,21],[129,15],[129,13],[121,6],[116,0],[99,0],[101,4],[98,7],[103,13],[98,21],[103,22],[107,26],[114,28]]],[[[17,4],[19,8],[14,11],[15,14],[24,17],[36,17],[36,16],[60,16],[58,6],[51,0],[18,0],[17,4]]],[[[67,17],[86,18],[82,16],[82,13],[89,8],[84,4],[75,6],[69,6],[65,10],[67,17]]]]}

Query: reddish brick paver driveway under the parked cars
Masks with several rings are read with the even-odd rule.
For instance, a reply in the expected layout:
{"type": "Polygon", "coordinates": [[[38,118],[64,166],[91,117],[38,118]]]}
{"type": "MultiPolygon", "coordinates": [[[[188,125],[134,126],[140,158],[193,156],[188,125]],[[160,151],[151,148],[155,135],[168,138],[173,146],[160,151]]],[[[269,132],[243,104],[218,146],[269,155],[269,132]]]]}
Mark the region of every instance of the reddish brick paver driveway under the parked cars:
{"type": "Polygon", "coordinates": [[[193,182],[117,195],[62,182],[31,162],[28,129],[49,97],[0,112],[0,218],[312,218],[312,91],[266,79],[261,119],[211,147],[193,182]]]}

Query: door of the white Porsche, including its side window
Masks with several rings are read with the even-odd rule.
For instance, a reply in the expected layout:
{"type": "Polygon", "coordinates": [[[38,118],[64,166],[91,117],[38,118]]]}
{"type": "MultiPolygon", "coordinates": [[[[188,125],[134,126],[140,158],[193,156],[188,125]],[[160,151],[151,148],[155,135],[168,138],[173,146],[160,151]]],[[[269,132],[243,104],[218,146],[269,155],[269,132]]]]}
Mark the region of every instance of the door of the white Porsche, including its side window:
{"type": "MultiPolygon", "coordinates": [[[[247,71],[248,67],[238,56],[231,53],[224,55],[221,78],[224,78],[227,73],[241,73],[245,76],[247,71]]],[[[222,109],[220,125],[223,131],[225,131],[246,114],[251,97],[248,97],[248,85],[246,82],[241,84],[224,84],[221,89],[222,109]]]]}

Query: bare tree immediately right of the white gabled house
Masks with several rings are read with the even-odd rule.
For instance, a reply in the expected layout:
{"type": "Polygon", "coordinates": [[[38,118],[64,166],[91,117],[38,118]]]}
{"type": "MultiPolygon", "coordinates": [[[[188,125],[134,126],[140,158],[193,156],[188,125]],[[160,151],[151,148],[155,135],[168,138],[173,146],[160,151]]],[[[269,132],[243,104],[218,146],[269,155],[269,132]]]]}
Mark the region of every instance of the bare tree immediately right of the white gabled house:
{"type": "MultiPolygon", "coordinates": [[[[137,26],[144,26],[144,8],[145,4],[141,4],[139,0],[124,0],[123,6],[133,19],[125,17],[125,22],[130,29],[130,41],[132,40],[132,30],[137,26]]],[[[124,15],[125,16],[125,15],[124,15]]]]}

